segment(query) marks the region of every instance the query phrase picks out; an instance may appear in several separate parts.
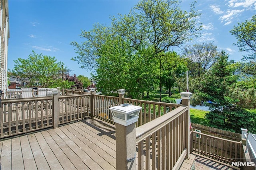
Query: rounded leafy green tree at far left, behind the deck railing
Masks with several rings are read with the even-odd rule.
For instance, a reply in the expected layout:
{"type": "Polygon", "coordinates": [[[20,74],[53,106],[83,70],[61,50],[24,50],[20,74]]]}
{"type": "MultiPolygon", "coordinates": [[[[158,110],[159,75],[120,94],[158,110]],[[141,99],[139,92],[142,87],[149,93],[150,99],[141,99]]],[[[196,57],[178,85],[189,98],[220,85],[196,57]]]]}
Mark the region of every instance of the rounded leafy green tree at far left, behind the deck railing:
{"type": "Polygon", "coordinates": [[[35,86],[39,81],[42,87],[50,87],[61,77],[62,71],[70,71],[64,63],[57,62],[55,57],[36,54],[33,50],[28,59],[18,58],[14,63],[12,75],[20,77],[27,86],[35,86]]]}

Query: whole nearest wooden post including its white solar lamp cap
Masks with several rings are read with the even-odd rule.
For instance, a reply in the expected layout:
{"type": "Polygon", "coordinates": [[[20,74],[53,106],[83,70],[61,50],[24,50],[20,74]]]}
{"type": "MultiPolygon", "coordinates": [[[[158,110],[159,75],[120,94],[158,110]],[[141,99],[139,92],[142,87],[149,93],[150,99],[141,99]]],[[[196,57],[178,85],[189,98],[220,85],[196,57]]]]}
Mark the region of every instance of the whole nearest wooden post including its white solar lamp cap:
{"type": "Polygon", "coordinates": [[[136,122],[142,107],[121,104],[109,109],[116,125],[116,169],[136,170],[136,122]]]}

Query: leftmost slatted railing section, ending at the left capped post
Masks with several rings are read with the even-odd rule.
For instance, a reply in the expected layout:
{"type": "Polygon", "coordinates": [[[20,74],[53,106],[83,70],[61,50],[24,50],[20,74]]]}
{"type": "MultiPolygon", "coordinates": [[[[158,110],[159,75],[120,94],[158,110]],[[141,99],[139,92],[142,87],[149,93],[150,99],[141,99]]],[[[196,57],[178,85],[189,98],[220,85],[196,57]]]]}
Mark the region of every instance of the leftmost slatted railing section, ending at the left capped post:
{"type": "Polygon", "coordinates": [[[0,138],[52,126],[52,96],[6,99],[0,104],[0,138]]]}

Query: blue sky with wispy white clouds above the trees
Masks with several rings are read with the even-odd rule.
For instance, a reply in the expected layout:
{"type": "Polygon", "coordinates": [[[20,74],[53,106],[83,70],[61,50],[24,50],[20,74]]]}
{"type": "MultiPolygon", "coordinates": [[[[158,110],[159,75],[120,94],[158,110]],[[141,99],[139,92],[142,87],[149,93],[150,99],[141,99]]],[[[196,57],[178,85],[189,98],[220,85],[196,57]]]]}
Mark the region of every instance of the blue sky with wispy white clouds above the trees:
{"type": "MultiPolygon", "coordinates": [[[[36,53],[56,57],[73,71],[70,74],[90,76],[91,70],[80,68],[70,42],[82,42],[81,29],[89,31],[94,23],[110,25],[110,16],[128,14],[136,0],[9,0],[10,39],[8,69],[14,60],[27,59],[36,53]]],[[[183,0],[181,8],[188,10],[191,0],[183,0]]],[[[244,53],[234,46],[236,38],[229,31],[238,22],[250,20],[256,14],[256,0],[198,0],[196,10],[202,13],[201,37],[188,44],[214,42],[224,49],[230,60],[240,61],[244,53]]],[[[180,52],[179,49],[176,51],[180,52]]]]}

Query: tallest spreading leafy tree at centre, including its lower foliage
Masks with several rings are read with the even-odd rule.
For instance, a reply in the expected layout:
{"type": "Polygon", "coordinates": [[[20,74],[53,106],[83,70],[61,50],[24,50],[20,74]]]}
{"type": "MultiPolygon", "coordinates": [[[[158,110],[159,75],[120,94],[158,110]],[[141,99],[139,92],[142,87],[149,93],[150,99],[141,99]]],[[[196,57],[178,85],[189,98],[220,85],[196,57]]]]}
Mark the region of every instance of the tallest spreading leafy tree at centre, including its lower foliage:
{"type": "MultiPolygon", "coordinates": [[[[155,86],[154,82],[157,81],[149,75],[158,76],[160,74],[151,69],[154,68],[152,67],[152,63],[158,65],[156,62],[159,61],[158,59],[161,56],[159,54],[164,51],[169,51],[170,47],[180,46],[189,41],[193,36],[199,35],[198,31],[201,25],[200,23],[198,25],[196,24],[196,18],[200,16],[200,14],[194,10],[194,3],[191,4],[189,12],[182,11],[179,5],[179,0],[141,0],[128,15],[120,15],[119,18],[113,17],[110,27],[96,24],[92,30],[82,31],[81,37],[86,39],[86,41],[82,43],[71,43],[71,45],[76,47],[76,53],[78,54],[78,56],[73,57],[72,60],[82,64],[82,68],[99,68],[97,71],[97,74],[99,74],[100,70],[104,71],[102,69],[106,65],[102,61],[106,61],[106,57],[111,56],[106,56],[105,51],[102,50],[105,48],[104,45],[109,41],[110,37],[120,37],[122,41],[127,43],[125,46],[126,49],[129,47],[128,51],[132,51],[130,53],[126,51],[124,54],[124,56],[129,56],[131,59],[129,61],[130,64],[128,64],[128,66],[131,67],[130,72],[138,63],[144,62],[140,63],[144,71],[140,71],[140,74],[134,74],[140,77],[137,77],[134,82],[136,84],[133,84],[133,86],[140,84],[141,90],[152,88],[155,86]],[[150,55],[142,55],[142,53],[148,50],[150,51],[150,55]],[[142,59],[142,57],[145,57],[145,59],[142,59]],[[134,62],[135,58],[136,62],[134,62]],[[131,65],[132,61],[134,62],[133,65],[131,65]],[[102,66],[100,64],[102,64],[102,66]],[[149,72],[149,70],[152,72],[149,72]],[[142,81],[143,76],[147,78],[144,79],[144,81],[142,81]],[[151,80],[149,80],[149,78],[151,78],[151,80]],[[151,83],[151,85],[148,85],[149,83],[151,83]]],[[[108,43],[108,45],[110,44],[108,43]]],[[[108,48],[108,50],[110,49],[113,50],[112,47],[108,48]]],[[[111,53],[111,51],[107,52],[111,53]]],[[[115,53],[116,51],[113,51],[113,54],[115,53]]],[[[114,58],[112,57],[112,59],[114,58]]],[[[115,62],[118,62],[118,60],[122,61],[122,58],[116,58],[115,60],[117,60],[115,62]]],[[[112,62],[115,63],[114,61],[112,62]]],[[[120,63],[116,64],[120,65],[120,63]]],[[[143,70],[142,68],[139,70],[143,70]]],[[[159,71],[161,69],[158,68],[155,70],[159,71]]],[[[112,74],[119,75],[120,72],[112,72],[112,74]]],[[[132,72],[130,74],[132,74],[132,72]]],[[[110,76],[106,78],[98,76],[97,80],[100,81],[99,78],[102,78],[102,80],[112,78],[114,75],[106,75],[110,76]]],[[[125,77],[119,76],[116,85],[127,81],[120,78],[125,77]]],[[[104,84],[102,84],[102,86],[103,85],[104,84]]],[[[130,89],[136,89],[136,87],[130,89]]],[[[146,91],[148,92],[148,90],[146,91]]]]}

